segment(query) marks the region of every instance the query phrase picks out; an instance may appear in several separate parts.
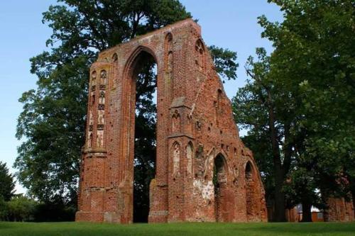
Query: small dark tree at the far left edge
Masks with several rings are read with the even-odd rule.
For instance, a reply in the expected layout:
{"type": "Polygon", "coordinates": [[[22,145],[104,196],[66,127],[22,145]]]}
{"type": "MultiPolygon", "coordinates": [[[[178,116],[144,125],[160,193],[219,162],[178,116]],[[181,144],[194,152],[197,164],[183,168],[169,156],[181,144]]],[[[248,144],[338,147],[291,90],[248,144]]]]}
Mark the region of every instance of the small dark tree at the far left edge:
{"type": "Polygon", "coordinates": [[[0,162],[0,198],[9,201],[15,192],[15,181],[13,175],[9,174],[6,163],[0,162]]]}

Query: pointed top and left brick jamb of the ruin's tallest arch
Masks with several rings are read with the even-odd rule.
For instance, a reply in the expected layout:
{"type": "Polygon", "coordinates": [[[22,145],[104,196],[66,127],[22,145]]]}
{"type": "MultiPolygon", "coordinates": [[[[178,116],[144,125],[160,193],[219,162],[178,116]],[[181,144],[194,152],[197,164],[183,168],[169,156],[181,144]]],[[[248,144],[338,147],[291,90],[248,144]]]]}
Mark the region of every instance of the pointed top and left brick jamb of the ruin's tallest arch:
{"type": "MultiPolygon", "coordinates": [[[[139,45],[135,47],[134,50],[131,51],[128,59],[126,60],[126,64],[124,65],[124,69],[122,70],[123,75],[121,77],[121,86],[125,89],[124,92],[121,93],[121,106],[120,109],[120,122],[124,123],[122,126],[122,130],[120,132],[119,139],[119,152],[121,157],[125,157],[122,162],[126,166],[126,173],[122,173],[122,178],[126,178],[126,181],[134,183],[134,150],[135,150],[135,130],[136,130],[136,86],[137,86],[137,76],[141,72],[141,66],[146,63],[155,63],[159,69],[159,64],[157,57],[155,56],[155,52],[151,47],[147,45],[139,45]]],[[[119,75],[118,75],[119,76],[119,75]]],[[[159,72],[157,77],[157,82],[159,79],[159,72]]],[[[156,86],[158,89],[158,86],[156,86]]],[[[158,140],[158,136],[156,137],[158,140]]],[[[155,175],[157,163],[155,162],[155,175]]],[[[144,219],[143,217],[139,217],[138,211],[136,210],[138,206],[136,205],[136,201],[134,201],[133,196],[136,196],[136,191],[134,191],[134,186],[127,185],[127,192],[133,193],[129,194],[129,209],[126,210],[127,219],[128,220],[139,220],[145,221],[148,220],[148,214],[151,208],[148,206],[148,213],[146,215],[146,211],[144,211],[144,219]],[[133,218],[132,218],[133,215],[133,218]]],[[[148,193],[150,196],[151,193],[148,193]]]]}

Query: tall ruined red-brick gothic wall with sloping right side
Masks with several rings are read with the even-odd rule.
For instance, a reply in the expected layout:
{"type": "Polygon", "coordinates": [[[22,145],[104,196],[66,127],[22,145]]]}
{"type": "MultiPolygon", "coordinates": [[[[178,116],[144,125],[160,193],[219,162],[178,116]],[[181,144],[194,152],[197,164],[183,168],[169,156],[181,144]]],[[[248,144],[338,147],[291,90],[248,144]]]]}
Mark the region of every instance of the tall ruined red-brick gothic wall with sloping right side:
{"type": "Polygon", "coordinates": [[[148,221],[266,221],[261,176],[192,19],[105,50],[92,64],[76,220],[133,221],[135,72],[144,53],[158,65],[148,221]]]}

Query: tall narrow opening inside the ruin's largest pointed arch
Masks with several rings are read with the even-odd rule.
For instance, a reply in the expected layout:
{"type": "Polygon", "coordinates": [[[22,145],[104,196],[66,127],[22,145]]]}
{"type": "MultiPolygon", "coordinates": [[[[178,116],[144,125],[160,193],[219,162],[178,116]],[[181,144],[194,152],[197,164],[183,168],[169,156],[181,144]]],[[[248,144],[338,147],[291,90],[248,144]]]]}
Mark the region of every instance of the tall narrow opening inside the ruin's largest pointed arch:
{"type": "Polygon", "coordinates": [[[155,177],[157,64],[150,53],[141,51],[133,67],[133,80],[136,82],[133,222],[147,223],[149,184],[155,177]]]}

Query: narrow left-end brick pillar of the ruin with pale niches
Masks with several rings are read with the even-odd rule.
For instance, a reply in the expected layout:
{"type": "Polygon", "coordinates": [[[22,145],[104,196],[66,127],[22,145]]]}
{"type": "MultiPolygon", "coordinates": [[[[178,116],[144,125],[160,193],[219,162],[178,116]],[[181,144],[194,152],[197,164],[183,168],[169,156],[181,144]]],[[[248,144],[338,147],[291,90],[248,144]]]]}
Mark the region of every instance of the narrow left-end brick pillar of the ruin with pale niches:
{"type": "Polygon", "coordinates": [[[107,104],[109,64],[92,65],[89,82],[87,135],[80,168],[77,221],[104,220],[107,193],[107,104]]]}

